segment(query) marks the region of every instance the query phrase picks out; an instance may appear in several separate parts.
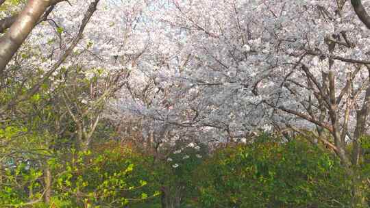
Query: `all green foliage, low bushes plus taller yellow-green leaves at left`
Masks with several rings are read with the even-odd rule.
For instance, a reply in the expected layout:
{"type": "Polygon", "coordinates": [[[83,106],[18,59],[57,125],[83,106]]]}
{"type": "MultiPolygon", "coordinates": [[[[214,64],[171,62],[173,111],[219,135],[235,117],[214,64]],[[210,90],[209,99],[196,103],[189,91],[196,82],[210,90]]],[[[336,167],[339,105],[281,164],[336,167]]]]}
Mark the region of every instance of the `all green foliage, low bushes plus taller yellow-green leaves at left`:
{"type": "MultiPolygon", "coordinates": [[[[90,78],[74,70],[75,77],[53,90],[45,83],[1,122],[0,207],[42,199],[47,167],[50,203],[33,207],[346,207],[350,201],[350,180],[336,157],[299,138],[281,142],[264,135],[211,155],[205,145],[177,142],[154,157],[110,141],[116,132],[103,121],[90,151],[77,151],[77,127],[66,106],[74,114],[82,112],[80,118],[88,123],[101,112],[106,96],[88,99],[104,70],[93,69],[90,78]],[[60,105],[63,91],[69,96],[66,105],[60,105]]],[[[62,74],[67,71],[72,70],[64,68],[62,74]]],[[[27,86],[10,84],[17,90],[1,90],[0,103],[27,92],[27,86]]],[[[362,175],[369,177],[369,139],[362,138],[361,146],[362,175]]]]}

